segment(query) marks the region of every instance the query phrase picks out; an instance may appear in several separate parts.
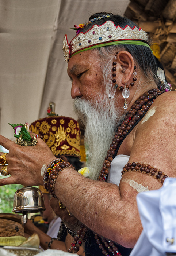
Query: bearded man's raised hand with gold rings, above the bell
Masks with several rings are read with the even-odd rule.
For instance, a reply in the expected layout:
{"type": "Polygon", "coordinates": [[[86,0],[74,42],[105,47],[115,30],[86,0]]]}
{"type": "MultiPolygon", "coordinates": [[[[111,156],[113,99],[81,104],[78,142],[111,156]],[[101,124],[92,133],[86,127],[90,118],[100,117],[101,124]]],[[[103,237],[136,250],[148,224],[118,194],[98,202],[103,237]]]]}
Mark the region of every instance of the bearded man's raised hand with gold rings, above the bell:
{"type": "MultiPolygon", "coordinates": [[[[35,146],[19,146],[0,135],[0,145],[9,150],[6,156],[9,178],[0,180],[0,185],[22,184],[37,186],[43,184],[43,173],[50,161],[55,158],[49,147],[42,139],[37,139],[35,146]]],[[[0,155],[3,153],[0,152],[0,155]]],[[[0,169],[4,165],[0,165],[0,169]]]]}

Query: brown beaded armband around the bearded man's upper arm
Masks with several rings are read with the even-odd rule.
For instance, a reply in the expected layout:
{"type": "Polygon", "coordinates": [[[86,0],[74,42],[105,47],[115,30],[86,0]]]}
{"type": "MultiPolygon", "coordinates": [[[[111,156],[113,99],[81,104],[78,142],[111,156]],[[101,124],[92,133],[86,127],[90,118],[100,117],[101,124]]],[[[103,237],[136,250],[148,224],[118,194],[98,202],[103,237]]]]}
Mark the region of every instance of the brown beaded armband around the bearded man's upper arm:
{"type": "Polygon", "coordinates": [[[125,167],[123,167],[122,176],[126,172],[146,173],[147,175],[152,176],[153,178],[159,180],[159,182],[161,183],[163,183],[165,178],[168,177],[164,172],[160,171],[160,169],[157,169],[151,165],[143,164],[139,162],[132,162],[132,164],[131,163],[126,164],[125,167]]]}

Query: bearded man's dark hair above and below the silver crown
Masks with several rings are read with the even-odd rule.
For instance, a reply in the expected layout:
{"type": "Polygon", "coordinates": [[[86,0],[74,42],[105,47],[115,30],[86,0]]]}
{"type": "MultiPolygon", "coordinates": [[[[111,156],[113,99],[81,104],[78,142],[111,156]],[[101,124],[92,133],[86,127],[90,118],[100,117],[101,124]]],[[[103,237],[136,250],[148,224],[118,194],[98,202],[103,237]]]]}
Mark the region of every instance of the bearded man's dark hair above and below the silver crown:
{"type": "MultiPolygon", "coordinates": [[[[133,28],[134,26],[137,26],[133,21],[130,19],[127,19],[126,17],[122,17],[118,14],[112,14],[111,12],[97,12],[89,17],[89,20],[102,17],[103,15],[110,14],[110,17],[102,18],[97,21],[93,21],[92,23],[88,23],[87,25],[84,26],[80,30],[80,32],[86,32],[87,30],[91,29],[93,25],[102,25],[106,21],[113,21],[116,26],[120,26],[121,28],[125,28],[126,25],[130,26],[133,28]]],[[[139,28],[137,26],[137,28],[139,28]]],[[[137,40],[137,41],[142,41],[142,40],[137,40]]],[[[151,44],[151,40],[148,37],[148,40],[145,41],[148,45],[151,44]]],[[[97,48],[97,50],[102,54],[102,47],[97,48]]],[[[108,49],[111,50],[125,50],[128,51],[135,61],[138,63],[138,66],[140,69],[144,72],[146,77],[153,77],[153,79],[156,81],[158,84],[158,80],[156,80],[156,73],[158,70],[157,62],[156,59],[149,47],[143,46],[143,45],[113,45],[113,46],[105,46],[103,47],[106,51],[108,49]]]]}

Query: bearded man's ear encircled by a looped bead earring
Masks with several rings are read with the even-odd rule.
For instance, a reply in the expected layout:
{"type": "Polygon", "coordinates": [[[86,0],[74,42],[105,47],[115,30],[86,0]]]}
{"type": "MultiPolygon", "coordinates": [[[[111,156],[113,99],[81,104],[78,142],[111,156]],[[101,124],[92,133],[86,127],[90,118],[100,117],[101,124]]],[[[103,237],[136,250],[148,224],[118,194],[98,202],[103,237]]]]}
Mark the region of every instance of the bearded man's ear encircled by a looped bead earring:
{"type": "Polygon", "coordinates": [[[120,51],[116,60],[122,68],[122,84],[125,84],[130,80],[134,72],[134,59],[129,52],[120,51]]]}

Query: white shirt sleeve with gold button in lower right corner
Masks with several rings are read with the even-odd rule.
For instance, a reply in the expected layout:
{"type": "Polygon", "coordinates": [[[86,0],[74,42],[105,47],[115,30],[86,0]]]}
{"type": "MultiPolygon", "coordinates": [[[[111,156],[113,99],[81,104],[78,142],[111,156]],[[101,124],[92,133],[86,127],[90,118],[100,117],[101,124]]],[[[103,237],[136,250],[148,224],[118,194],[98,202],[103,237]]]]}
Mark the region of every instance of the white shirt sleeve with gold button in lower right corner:
{"type": "Polygon", "coordinates": [[[130,256],[176,253],[176,178],[167,178],[158,190],[137,195],[143,231],[130,256]],[[167,242],[173,238],[173,244],[167,242]]]}

